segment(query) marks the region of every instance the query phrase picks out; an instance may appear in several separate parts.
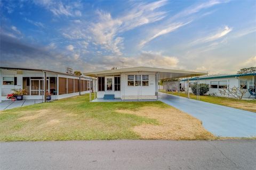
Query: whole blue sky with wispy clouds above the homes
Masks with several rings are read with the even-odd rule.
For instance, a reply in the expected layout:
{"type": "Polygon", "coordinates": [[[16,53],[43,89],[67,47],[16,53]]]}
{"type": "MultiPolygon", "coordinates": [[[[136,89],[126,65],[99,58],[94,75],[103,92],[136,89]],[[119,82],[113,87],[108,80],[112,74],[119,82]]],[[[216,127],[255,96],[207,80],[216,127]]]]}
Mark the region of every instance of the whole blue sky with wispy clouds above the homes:
{"type": "Polygon", "coordinates": [[[82,72],[256,66],[256,1],[2,1],[1,66],[82,72]]]}

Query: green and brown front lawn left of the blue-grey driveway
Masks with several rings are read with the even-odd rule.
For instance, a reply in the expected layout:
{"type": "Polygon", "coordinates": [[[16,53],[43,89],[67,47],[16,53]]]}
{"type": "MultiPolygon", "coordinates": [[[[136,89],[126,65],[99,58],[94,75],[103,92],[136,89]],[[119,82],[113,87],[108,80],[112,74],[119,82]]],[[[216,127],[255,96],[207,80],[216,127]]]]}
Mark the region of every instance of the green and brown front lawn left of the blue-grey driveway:
{"type": "Polygon", "coordinates": [[[0,112],[0,141],[216,139],[161,101],[90,103],[89,95],[0,112]]]}

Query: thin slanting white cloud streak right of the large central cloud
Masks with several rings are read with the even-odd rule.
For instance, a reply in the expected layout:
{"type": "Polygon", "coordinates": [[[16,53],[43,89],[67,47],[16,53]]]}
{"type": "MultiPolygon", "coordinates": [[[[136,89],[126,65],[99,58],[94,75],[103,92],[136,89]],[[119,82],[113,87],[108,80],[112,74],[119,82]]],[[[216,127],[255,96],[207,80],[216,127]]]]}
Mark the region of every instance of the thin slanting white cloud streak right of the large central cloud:
{"type": "Polygon", "coordinates": [[[140,47],[143,47],[145,44],[147,44],[149,41],[159,37],[159,36],[162,36],[162,35],[165,35],[166,33],[170,33],[170,32],[173,32],[175,30],[177,30],[178,28],[188,24],[190,22],[187,22],[187,23],[174,23],[174,24],[171,24],[169,25],[169,27],[167,27],[166,29],[163,29],[163,30],[159,30],[154,36],[152,37],[149,37],[148,39],[146,40],[142,40],[139,44],[140,47]]]}

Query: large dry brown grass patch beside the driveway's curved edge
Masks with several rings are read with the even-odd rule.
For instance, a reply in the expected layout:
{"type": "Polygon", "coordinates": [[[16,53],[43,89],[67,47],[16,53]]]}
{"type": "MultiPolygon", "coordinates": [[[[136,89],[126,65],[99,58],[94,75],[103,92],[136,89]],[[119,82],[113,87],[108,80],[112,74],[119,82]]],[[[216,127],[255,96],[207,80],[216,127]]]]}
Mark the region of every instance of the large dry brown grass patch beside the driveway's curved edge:
{"type": "Polygon", "coordinates": [[[196,140],[216,139],[206,131],[201,121],[173,107],[141,107],[137,111],[117,110],[118,113],[134,114],[155,118],[160,125],[142,124],[135,126],[142,139],[196,140]]]}

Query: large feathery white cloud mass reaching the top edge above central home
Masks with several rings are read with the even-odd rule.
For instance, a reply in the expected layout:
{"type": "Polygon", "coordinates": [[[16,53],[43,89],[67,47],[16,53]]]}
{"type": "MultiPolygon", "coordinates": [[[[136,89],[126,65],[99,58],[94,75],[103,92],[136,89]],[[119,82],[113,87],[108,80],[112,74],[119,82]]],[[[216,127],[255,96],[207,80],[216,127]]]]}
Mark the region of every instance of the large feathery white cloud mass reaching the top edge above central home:
{"type": "Polygon", "coordinates": [[[122,55],[122,49],[124,49],[122,33],[162,20],[165,17],[165,12],[156,10],[166,3],[167,1],[134,3],[129,10],[115,18],[108,12],[98,10],[96,12],[97,19],[86,24],[71,25],[63,31],[63,36],[73,40],[91,41],[92,44],[108,53],[122,55]]]}

